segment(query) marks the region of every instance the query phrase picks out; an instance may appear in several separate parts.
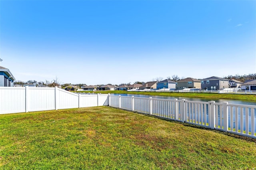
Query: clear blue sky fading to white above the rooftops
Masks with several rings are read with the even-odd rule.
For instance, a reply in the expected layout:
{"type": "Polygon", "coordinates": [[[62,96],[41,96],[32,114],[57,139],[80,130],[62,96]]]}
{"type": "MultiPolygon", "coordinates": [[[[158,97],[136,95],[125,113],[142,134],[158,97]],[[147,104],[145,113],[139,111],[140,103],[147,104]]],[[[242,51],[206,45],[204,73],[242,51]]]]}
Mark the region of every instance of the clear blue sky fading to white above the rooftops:
{"type": "Polygon", "coordinates": [[[87,85],[256,73],[256,1],[0,0],[0,58],[87,85]]]}

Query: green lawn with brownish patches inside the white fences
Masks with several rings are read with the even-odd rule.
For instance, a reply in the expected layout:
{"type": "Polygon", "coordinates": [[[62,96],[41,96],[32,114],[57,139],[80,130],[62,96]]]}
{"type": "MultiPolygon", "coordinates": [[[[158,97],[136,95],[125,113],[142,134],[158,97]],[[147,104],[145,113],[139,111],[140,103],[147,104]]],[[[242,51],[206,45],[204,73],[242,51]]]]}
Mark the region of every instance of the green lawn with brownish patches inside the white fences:
{"type": "Polygon", "coordinates": [[[0,169],[253,169],[256,140],[114,109],[0,115],[0,169]]]}

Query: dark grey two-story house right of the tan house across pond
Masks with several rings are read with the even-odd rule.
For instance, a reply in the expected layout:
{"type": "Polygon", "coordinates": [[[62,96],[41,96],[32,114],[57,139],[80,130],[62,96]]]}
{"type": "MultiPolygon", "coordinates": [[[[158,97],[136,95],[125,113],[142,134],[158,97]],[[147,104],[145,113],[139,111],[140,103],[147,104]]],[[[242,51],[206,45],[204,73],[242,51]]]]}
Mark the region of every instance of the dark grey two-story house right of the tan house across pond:
{"type": "Polygon", "coordinates": [[[228,79],[212,76],[201,80],[201,88],[204,90],[222,90],[229,87],[228,79]]]}

